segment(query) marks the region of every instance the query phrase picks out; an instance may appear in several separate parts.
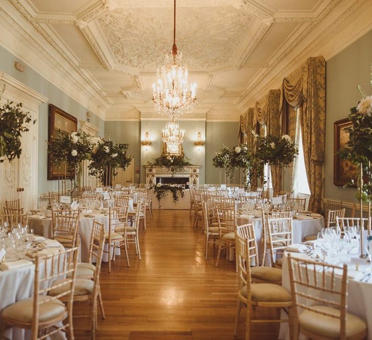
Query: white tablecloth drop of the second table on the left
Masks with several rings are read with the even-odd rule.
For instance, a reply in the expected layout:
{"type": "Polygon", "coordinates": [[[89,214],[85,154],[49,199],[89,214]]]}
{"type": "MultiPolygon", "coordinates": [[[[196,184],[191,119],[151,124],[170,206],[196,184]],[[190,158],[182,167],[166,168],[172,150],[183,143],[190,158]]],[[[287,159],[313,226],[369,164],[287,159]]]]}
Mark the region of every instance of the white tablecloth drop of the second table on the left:
{"type": "MultiPolygon", "coordinates": [[[[35,234],[51,238],[51,217],[41,215],[28,216],[29,228],[34,229],[35,234]]],[[[102,223],[105,226],[106,233],[109,232],[109,215],[108,213],[92,213],[89,215],[82,214],[79,219],[78,234],[81,238],[81,261],[88,262],[89,260],[89,242],[92,233],[93,221],[102,223]]],[[[104,250],[108,250],[108,245],[104,246],[104,250]]],[[[115,248],[115,255],[120,255],[120,248],[115,248]]],[[[108,262],[108,253],[104,252],[102,261],[108,262]]]]}

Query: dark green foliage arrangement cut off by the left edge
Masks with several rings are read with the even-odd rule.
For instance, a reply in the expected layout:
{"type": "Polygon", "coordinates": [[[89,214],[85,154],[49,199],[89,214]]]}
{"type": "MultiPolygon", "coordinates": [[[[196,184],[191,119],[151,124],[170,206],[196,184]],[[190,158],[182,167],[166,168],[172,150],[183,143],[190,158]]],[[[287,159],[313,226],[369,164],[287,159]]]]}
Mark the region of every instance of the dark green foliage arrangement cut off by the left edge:
{"type": "Polygon", "coordinates": [[[8,101],[0,105],[0,163],[11,161],[21,155],[21,135],[29,131],[27,124],[32,121],[29,112],[23,112],[22,103],[8,101]]]}

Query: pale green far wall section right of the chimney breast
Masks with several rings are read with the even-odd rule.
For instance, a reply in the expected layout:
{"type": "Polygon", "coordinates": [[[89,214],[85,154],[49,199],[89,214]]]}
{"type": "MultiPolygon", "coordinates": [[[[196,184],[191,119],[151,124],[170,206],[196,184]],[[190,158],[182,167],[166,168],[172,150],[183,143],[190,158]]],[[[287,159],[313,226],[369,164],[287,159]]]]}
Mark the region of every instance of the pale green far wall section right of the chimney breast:
{"type": "MultiPolygon", "coordinates": [[[[237,145],[238,122],[206,122],[205,127],[205,183],[225,183],[223,173],[212,165],[215,152],[220,151],[225,145],[237,145]]],[[[236,176],[236,183],[239,182],[236,176]]]]}

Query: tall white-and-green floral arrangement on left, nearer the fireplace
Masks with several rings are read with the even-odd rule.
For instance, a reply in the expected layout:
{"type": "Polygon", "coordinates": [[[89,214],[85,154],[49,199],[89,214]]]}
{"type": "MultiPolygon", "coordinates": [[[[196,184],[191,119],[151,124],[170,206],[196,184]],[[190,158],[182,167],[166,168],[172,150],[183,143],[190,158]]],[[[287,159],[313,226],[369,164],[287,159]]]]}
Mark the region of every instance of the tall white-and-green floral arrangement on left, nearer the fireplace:
{"type": "Polygon", "coordinates": [[[89,175],[99,177],[101,180],[106,175],[108,166],[111,166],[111,175],[115,168],[126,169],[130,164],[133,156],[127,155],[127,145],[125,144],[110,144],[103,138],[98,138],[93,145],[92,162],[89,164],[89,175]]]}

